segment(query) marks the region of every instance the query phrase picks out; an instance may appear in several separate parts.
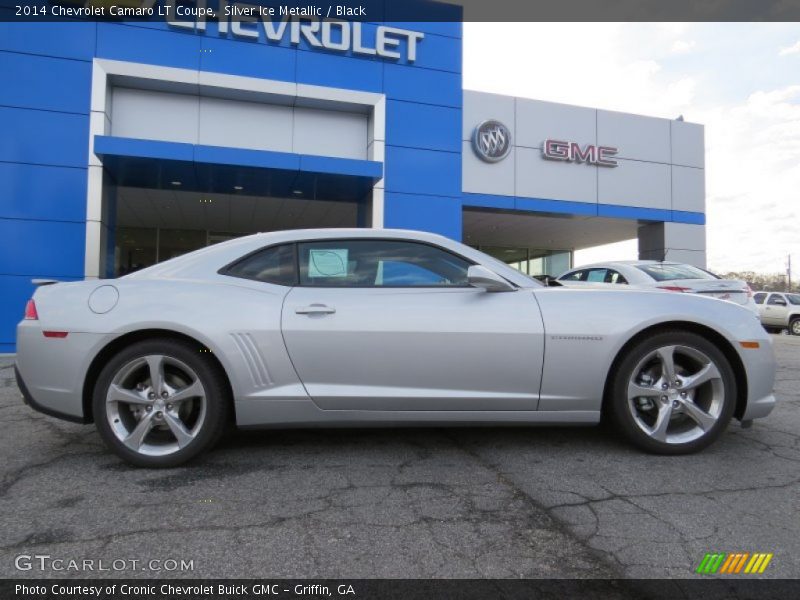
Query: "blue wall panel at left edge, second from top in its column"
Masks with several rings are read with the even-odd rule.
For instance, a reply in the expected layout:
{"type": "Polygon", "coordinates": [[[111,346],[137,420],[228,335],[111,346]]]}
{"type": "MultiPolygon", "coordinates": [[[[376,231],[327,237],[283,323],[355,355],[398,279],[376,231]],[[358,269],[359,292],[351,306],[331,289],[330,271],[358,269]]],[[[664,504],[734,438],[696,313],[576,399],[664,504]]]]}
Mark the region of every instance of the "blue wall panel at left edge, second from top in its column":
{"type": "Polygon", "coordinates": [[[89,112],[91,63],[0,52],[0,73],[0,105],[89,112]]]}

